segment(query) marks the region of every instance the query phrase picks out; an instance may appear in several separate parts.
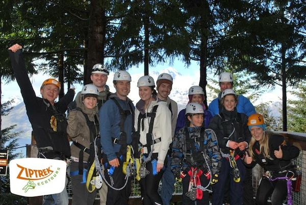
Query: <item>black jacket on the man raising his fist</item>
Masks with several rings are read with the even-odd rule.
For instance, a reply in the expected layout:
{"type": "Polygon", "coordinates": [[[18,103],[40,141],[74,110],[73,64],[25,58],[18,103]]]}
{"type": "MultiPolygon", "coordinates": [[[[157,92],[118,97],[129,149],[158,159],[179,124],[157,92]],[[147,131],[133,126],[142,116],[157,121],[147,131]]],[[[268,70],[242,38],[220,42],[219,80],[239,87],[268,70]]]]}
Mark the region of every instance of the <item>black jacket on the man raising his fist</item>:
{"type": "Polygon", "coordinates": [[[46,156],[47,158],[54,158],[62,154],[65,157],[69,157],[70,146],[66,134],[67,120],[65,112],[69,102],[73,100],[74,91],[70,89],[64,97],[52,106],[47,99],[36,96],[25,69],[21,50],[16,53],[9,50],[9,54],[37,147],[53,147],[54,153],[46,156]],[[56,131],[50,124],[52,118],[57,119],[56,131]]]}

